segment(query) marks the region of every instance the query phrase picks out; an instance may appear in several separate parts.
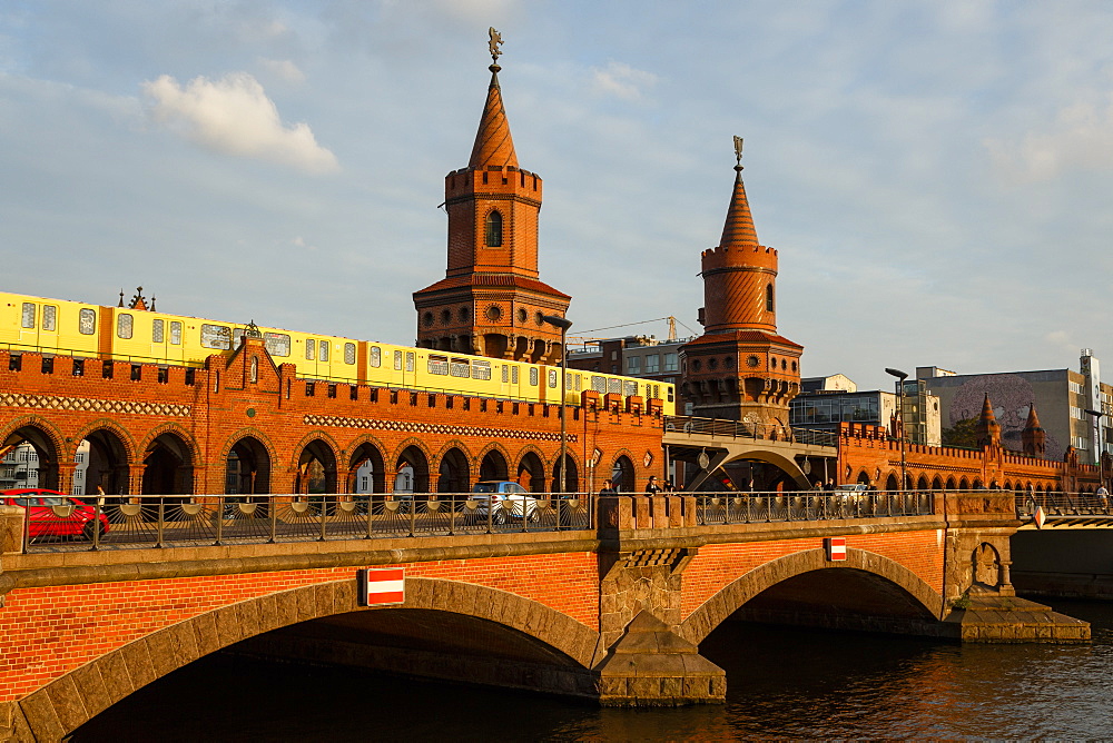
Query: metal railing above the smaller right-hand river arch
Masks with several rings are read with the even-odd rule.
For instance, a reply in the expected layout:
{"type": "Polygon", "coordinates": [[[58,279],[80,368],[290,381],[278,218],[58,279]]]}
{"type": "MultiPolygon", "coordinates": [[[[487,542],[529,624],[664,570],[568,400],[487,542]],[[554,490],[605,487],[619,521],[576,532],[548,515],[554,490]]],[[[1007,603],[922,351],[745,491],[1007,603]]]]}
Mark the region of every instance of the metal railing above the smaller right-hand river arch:
{"type": "Polygon", "coordinates": [[[930,492],[696,493],[697,524],[818,522],[935,513],[930,492]]]}

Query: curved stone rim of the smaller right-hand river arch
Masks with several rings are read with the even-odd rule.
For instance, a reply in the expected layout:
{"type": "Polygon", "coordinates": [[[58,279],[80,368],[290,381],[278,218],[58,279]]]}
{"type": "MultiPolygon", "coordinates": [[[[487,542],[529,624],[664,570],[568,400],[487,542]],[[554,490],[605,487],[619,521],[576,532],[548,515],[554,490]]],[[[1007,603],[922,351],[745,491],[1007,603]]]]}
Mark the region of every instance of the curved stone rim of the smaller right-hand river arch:
{"type": "Polygon", "coordinates": [[[766,588],[804,573],[821,569],[851,568],[870,573],[889,581],[908,593],[924,608],[925,618],[937,618],[943,597],[923,578],[900,563],[865,549],[847,549],[846,561],[828,562],[823,549],[805,549],[770,561],[736,578],[703,605],[692,612],[680,625],[680,636],[699,644],[746,602],[766,588]]]}

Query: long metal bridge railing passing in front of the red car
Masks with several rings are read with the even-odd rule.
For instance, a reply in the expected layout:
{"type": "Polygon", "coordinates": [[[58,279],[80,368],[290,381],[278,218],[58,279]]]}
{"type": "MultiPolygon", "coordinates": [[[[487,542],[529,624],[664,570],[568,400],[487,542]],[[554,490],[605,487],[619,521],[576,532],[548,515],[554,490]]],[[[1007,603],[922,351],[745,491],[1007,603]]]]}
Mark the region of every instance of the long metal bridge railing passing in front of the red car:
{"type": "Polygon", "coordinates": [[[78,496],[69,505],[26,504],[23,551],[563,532],[594,525],[593,498],[585,493],[511,495],[491,507],[486,501],[473,496],[471,493],[385,497],[383,494],[145,495],[85,499],[78,496]]]}

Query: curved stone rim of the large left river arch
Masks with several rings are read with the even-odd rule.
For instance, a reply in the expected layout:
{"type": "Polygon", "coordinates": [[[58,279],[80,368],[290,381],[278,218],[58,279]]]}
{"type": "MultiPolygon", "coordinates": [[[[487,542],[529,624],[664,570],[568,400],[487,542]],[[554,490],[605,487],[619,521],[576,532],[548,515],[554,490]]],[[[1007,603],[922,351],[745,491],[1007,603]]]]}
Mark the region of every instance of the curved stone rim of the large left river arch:
{"type": "MultiPolygon", "coordinates": [[[[570,667],[582,671],[591,667],[599,642],[598,632],[567,614],[470,583],[406,578],[406,602],[391,608],[449,612],[493,622],[558,651],[569,658],[570,667]]],[[[23,697],[13,705],[17,739],[62,740],[132,692],[249,637],[312,620],[374,611],[356,605],[355,581],[348,578],[198,614],[110,651],[23,697]]]]}

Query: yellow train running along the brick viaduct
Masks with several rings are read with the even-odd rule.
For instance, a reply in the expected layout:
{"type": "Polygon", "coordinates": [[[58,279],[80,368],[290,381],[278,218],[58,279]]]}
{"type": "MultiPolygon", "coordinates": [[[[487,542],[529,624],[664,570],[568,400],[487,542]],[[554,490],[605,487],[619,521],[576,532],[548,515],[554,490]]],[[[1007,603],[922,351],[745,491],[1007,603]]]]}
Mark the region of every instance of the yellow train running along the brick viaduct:
{"type": "MultiPolygon", "coordinates": [[[[413,346],[259,327],[276,364],[324,382],[459,393],[526,402],[560,402],[560,369],[413,346]]],[[[0,348],[135,364],[199,367],[232,354],[247,327],[147,309],[0,293],[0,348]]],[[[676,412],[674,385],[570,369],[564,402],[579,405],[593,389],[660,400],[676,412]]]]}

